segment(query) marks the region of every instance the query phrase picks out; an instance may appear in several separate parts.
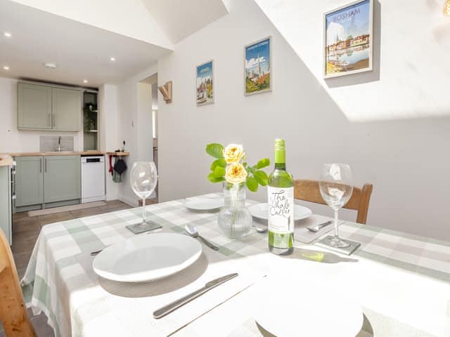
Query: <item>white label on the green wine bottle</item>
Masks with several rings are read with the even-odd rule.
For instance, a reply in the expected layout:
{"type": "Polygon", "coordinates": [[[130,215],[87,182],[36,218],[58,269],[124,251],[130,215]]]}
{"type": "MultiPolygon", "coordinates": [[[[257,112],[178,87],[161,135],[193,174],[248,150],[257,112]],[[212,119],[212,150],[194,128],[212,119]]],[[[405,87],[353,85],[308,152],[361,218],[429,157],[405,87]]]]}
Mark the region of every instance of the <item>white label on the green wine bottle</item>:
{"type": "Polygon", "coordinates": [[[294,232],[294,187],[267,187],[269,231],[294,232]]]}

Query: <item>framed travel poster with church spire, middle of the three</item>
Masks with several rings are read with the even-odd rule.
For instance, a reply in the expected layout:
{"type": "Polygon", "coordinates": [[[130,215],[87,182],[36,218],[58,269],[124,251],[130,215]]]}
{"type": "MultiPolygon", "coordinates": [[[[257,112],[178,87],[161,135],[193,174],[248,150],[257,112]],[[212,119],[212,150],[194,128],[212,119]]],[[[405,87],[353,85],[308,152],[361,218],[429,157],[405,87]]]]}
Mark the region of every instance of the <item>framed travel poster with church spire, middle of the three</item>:
{"type": "Polygon", "coordinates": [[[271,37],[248,44],[244,48],[244,94],[271,91],[271,37]]]}

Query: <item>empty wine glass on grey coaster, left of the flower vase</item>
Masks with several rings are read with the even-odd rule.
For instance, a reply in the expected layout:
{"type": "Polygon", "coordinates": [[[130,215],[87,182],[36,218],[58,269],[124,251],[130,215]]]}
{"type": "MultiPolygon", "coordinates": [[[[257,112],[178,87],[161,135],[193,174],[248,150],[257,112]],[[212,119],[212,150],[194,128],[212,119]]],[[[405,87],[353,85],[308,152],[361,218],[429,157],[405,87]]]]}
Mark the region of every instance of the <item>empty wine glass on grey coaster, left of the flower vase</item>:
{"type": "Polygon", "coordinates": [[[135,161],[131,167],[130,183],[133,192],[142,199],[142,223],[127,227],[136,234],[153,230],[155,224],[150,223],[146,217],[146,199],[150,197],[158,183],[158,171],[155,163],[153,161],[135,161]]]}

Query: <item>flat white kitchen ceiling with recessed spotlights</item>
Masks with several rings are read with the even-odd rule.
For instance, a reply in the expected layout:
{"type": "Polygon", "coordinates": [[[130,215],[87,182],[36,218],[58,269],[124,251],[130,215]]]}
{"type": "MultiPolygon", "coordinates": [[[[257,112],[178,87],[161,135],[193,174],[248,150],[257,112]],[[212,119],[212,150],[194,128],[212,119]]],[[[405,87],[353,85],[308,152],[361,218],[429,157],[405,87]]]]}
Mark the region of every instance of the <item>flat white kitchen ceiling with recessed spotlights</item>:
{"type": "Polygon", "coordinates": [[[0,0],[0,77],[80,86],[117,84],[167,53],[169,49],[160,46],[0,0]],[[7,39],[4,32],[12,37],[7,39]],[[110,61],[112,56],[115,62],[110,61]],[[58,67],[48,69],[45,62],[58,67]],[[4,70],[5,65],[10,70],[4,70]]]}

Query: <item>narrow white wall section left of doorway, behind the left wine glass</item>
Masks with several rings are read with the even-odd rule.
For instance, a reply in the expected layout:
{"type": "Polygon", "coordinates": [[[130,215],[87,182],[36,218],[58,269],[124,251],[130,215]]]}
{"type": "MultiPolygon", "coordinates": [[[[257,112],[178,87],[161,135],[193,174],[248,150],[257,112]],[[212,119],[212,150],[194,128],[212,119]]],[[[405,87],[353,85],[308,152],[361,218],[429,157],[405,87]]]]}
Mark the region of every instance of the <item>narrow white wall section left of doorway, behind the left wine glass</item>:
{"type": "Polygon", "coordinates": [[[129,184],[131,165],[134,161],[153,160],[151,88],[150,84],[147,84],[148,95],[144,95],[140,88],[142,89],[145,84],[139,82],[156,72],[157,65],[151,65],[147,70],[117,86],[117,143],[122,146],[122,141],[125,140],[125,150],[129,152],[129,157],[125,159],[128,169],[123,174],[122,183],[119,184],[119,199],[132,206],[137,206],[138,201],[129,184]],[[148,111],[145,107],[148,107],[148,111]]]}

